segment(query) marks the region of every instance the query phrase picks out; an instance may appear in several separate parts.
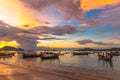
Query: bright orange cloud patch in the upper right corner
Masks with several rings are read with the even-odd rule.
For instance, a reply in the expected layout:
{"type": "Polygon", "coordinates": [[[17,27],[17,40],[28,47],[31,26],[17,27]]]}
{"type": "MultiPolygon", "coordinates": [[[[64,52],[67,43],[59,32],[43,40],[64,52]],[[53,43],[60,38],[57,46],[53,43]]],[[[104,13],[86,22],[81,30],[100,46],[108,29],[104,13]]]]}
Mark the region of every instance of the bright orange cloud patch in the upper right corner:
{"type": "Polygon", "coordinates": [[[81,0],[81,7],[84,11],[91,9],[102,9],[108,5],[120,3],[120,0],[81,0]]]}

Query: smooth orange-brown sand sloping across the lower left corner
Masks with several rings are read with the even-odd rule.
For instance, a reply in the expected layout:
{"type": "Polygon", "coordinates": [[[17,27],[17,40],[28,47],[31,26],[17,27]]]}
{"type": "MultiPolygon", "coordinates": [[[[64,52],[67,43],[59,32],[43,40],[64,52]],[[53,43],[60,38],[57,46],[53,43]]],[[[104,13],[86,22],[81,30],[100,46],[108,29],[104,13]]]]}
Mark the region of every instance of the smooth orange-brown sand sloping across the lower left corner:
{"type": "Polygon", "coordinates": [[[74,80],[28,68],[0,64],[0,80],[74,80]]]}

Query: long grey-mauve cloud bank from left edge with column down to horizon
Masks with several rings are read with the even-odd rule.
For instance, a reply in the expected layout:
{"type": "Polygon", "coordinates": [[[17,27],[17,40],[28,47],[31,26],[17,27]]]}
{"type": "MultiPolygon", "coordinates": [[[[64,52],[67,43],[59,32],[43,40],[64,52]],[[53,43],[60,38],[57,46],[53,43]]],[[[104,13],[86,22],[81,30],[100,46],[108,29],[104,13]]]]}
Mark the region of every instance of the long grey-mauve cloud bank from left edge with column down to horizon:
{"type": "Polygon", "coordinates": [[[16,40],[20,44],[20,47],[30,50],[36,49],[38,40],[39,41],[64,40],[57,37],[51,37],[51,36],[48,37],[47,35],[49,34],[64,36],[66,34],[75,34],[77,32],[79,32],[77,28],[72,27],[70,25],[55,26],[55,27],[40,26],[34,29],[24,30],[24,29],[12,27],[10,25],[8,27],[8,24],[1,21],[1,26],[0,26],[1,40],[5,40],[5,41],[16,40]]]}

